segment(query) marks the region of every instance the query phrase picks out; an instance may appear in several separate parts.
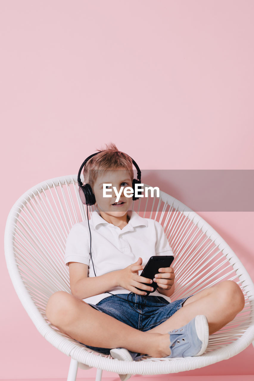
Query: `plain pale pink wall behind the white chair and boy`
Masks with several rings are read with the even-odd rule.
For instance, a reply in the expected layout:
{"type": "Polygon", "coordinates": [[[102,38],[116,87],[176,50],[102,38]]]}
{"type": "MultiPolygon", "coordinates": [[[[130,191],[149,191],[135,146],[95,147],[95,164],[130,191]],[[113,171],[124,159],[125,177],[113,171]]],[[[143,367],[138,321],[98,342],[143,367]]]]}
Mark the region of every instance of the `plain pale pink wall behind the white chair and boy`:
{"type": "MultiPolygon", "coordinates": [[[[2,0],[2,240],[20,195],[109,141],[142,169],[254,169],[253,16],[251,0],[2,0]]],[[[254,279],[254,212],[199,214],[254,279]]],[[[2,260],[0,378],[65,378],[2,260]]],[[[253,355],[183,374],[251,375],[253,355]]]]}

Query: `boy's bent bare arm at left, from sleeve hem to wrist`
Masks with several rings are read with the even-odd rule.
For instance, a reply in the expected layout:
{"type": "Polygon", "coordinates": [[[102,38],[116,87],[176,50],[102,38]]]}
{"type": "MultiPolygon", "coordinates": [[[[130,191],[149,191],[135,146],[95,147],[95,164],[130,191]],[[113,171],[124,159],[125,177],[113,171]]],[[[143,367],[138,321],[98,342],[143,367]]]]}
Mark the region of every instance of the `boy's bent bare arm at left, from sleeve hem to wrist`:
{"type": "Polygon", "coordinates": [[[79,299],[99,295],[117,286],[116,271],[97,277],[88,277],[87,264],[69,262],[71,293],[79,299]]]}

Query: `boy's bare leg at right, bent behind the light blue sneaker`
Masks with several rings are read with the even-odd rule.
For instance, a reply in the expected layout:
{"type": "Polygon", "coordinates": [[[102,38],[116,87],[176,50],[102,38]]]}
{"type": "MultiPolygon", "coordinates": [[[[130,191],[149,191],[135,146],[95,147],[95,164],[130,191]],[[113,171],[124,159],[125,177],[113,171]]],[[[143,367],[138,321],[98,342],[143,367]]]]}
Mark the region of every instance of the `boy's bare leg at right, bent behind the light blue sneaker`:
{"type": "Polygon", "coordinates": [[[211,335],[233,320],[243,307],[244,295],[240,287],[227,280],[191,296],[181,309],[149,332],[165,334],[183,327],[196,315],[206,315],[211,335]]]}

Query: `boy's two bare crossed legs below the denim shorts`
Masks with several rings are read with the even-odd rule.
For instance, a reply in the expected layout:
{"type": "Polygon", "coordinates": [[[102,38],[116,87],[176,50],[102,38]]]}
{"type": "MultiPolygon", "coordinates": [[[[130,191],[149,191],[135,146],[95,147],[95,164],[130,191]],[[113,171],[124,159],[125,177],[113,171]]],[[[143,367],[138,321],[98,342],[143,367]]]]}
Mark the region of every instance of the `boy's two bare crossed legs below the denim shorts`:
{"type": "Polygon", "coordinates": [[[184,326],[196,315],[205,315],[211,335],[233,320],[243,307],[240,287],[235,282],[224,281],[191,296],[169,319],[146,332],[101,313],[64,291],[50,297],[46,314],[60,331],[89,346],[123,347],[152,357],[166,357],[170,355],[169,331],[184,326]]]}

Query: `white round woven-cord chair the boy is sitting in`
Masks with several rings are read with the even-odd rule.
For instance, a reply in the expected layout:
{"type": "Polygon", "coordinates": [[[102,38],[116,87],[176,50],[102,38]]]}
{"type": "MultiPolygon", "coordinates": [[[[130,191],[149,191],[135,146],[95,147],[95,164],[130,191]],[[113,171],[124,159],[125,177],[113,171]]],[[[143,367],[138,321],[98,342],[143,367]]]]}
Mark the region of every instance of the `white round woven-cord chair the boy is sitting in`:
{"type": "MultiPolygon", "coordinates": [[[[76,175],[43,181],[11,208],[5,229],[5,256],[14,288],[37,330],[71,356],[68,381],[75,381],[78,366],[97,368],[96,381],[101,380],[102,370],[156,375],[201,368],[238,354],[254,340],[254,285],[220,235],[194,211],[164,192],[159,198],[133,202],[133,209],[164,227],[175,255],[177,287],[172,300],[223,280],[234,280],[243,290],[245,307],[232,322],[209,337],[203,355],[184,359],[147,356],[138,362],[125,362],[91,351],[59,332],[48,322],[45,307],[55,291],[71,293],[68,267],[64,264],[66,238],[72,225],[87,216],[79,199],[76,175]]],[[[88,213],[93,210],[94,206],[89,207],[88,213]]]]}

